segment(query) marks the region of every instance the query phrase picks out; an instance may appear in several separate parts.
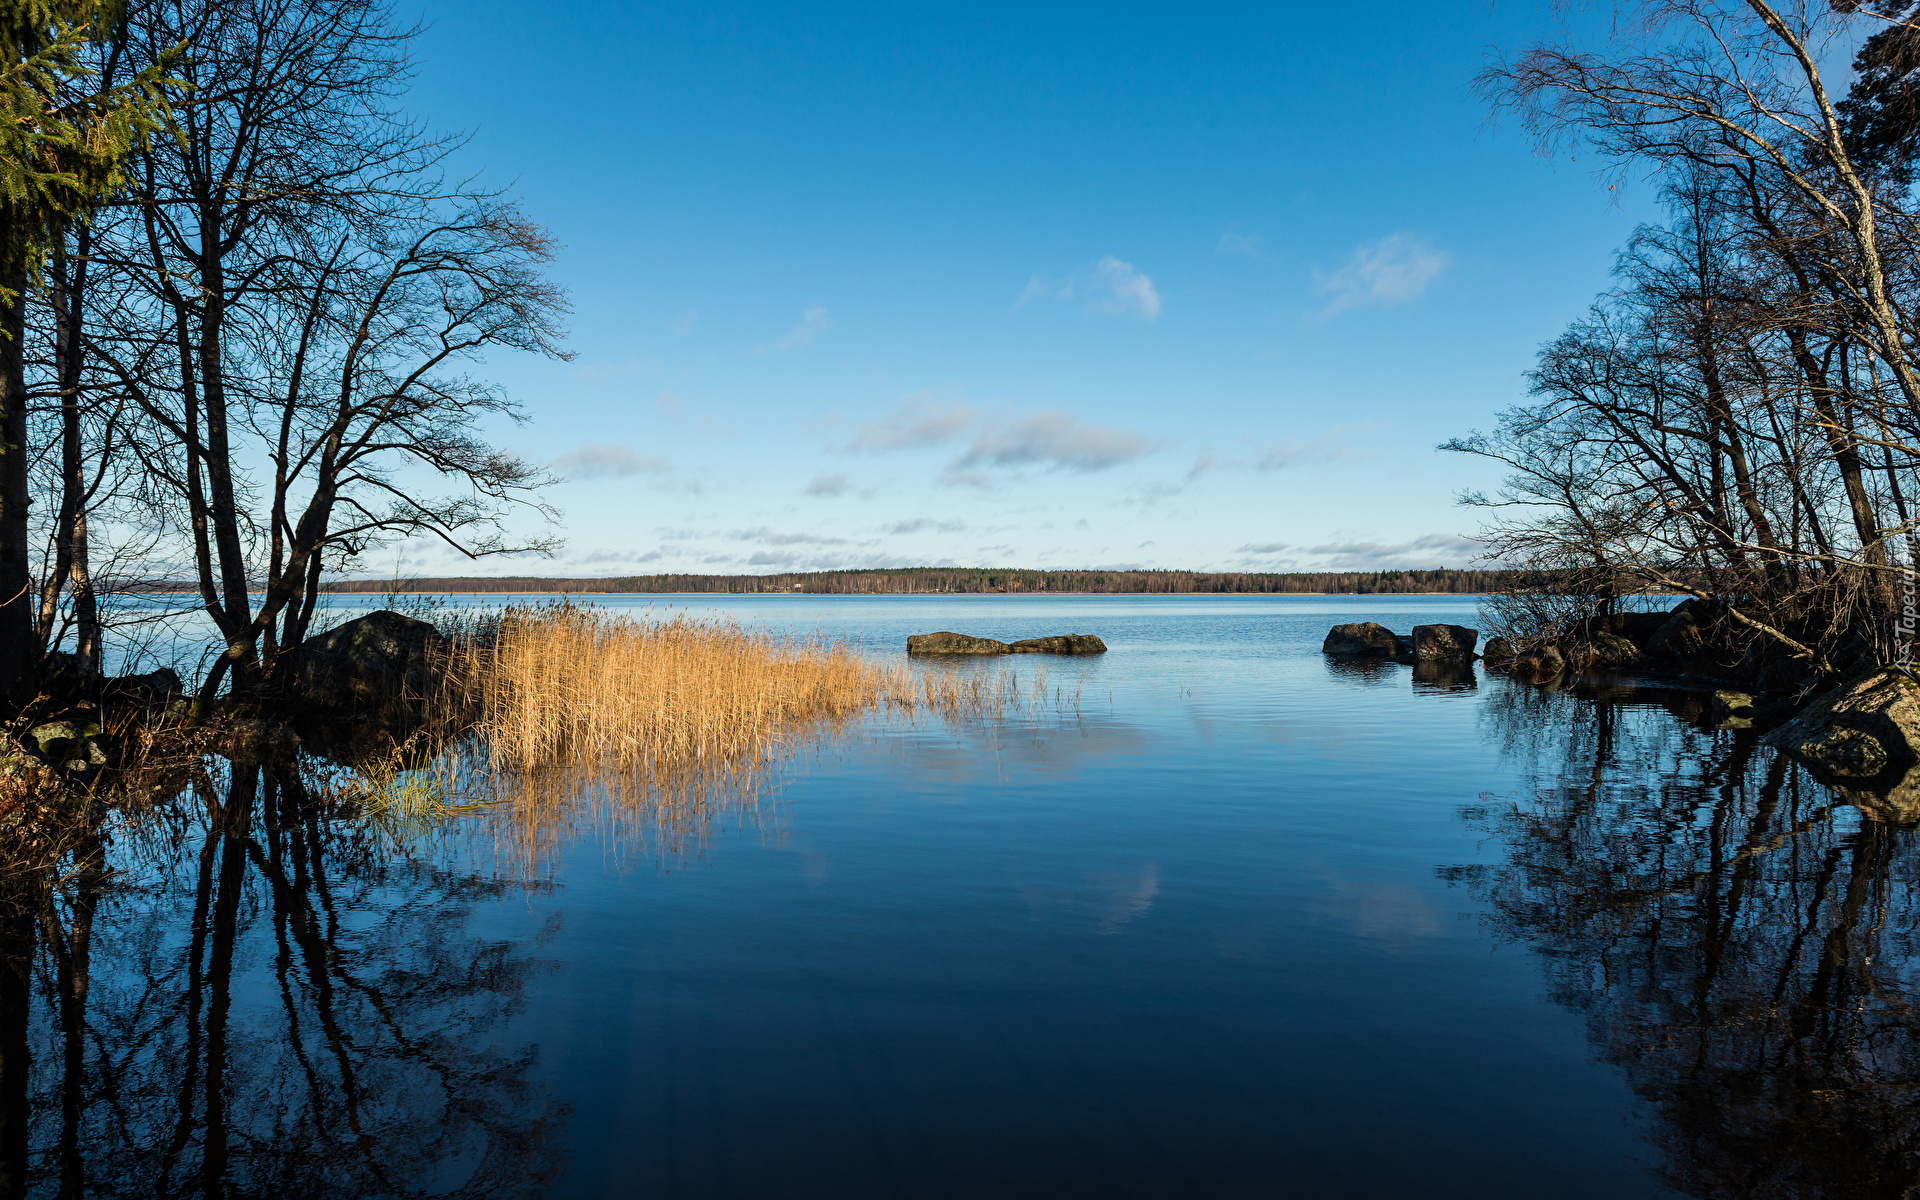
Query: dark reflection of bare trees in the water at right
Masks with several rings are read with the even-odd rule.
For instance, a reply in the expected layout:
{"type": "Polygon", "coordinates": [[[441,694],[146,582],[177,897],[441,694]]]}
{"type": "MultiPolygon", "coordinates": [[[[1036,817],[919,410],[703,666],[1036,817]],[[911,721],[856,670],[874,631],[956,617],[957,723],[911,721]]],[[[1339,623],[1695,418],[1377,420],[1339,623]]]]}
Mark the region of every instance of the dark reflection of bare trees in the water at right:
{"type": "Polygon", "coordinates": [[[1471,812],[1505,862],[1442,874],[1542,956],[1551,996],[1653,1108],[1668,1187],[1912,1196],[1916,831],[1751,735],[1661,712],[1697,718],[1701,699],[1488,697],[1536,785],[1471,812]]]}

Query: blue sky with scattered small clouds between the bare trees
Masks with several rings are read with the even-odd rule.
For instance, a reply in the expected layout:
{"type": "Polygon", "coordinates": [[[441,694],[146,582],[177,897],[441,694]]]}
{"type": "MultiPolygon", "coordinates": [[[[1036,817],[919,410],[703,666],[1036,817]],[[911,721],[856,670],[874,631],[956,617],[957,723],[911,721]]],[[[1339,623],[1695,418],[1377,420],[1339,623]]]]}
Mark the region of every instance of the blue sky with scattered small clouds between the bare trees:
{"type": "Polygon", "coordinates": [[[488,365],[568,545],[484,572],[1463,564],[1434,444],[1653,194],[1488,127],[1548,4],[419,12],[576,303],[488,365]]]}

